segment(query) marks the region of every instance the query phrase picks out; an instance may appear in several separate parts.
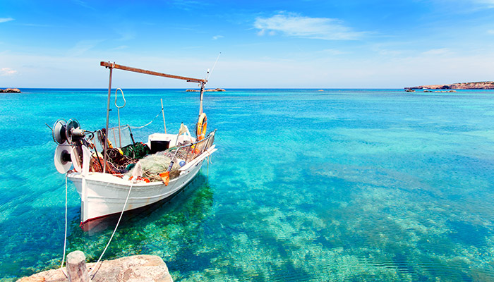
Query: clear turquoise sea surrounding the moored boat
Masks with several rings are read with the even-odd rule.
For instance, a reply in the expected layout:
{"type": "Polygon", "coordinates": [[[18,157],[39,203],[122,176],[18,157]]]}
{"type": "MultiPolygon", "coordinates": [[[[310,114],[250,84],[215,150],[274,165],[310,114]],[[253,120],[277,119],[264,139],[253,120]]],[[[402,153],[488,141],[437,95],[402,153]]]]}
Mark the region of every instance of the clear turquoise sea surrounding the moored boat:
{"type": "MultiPolygon", "coordinates": [[[[106,118],[107,90],[21,90],[0,94],[0,281],[64,252],[65,178],[44,123],[106,118]]],[[[122,123],[151,121],[162,98],[167,130],[193,128],[198,93],[123,91],[122,123]]],[[[174,281],[494,281],[494,91],[227,90],[204,103],[212,163],[169,202],[124,214],[104,259],[159,255],[174,281]]],[[[160,130],[161,116],[134,135],[160,130]]],[[[79,203],[69,182],[67,250],[95,262],[116,220],[84,232],[79,203]]]]}

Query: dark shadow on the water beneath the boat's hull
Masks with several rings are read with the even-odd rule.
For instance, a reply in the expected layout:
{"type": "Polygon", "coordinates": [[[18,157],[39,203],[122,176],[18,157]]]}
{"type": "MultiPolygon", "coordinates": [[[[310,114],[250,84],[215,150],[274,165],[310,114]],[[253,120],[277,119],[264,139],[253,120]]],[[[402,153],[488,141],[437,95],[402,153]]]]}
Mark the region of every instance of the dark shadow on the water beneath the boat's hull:
{"type": "MultiPolygon", "coordinates": [[[[124,212],[119,223],[119,229],[142,226],[152,221],[159,221],[167,214],[176,214],[180,212],[179,209],[186,209],[189,205],[188,203],[191,203],[193,207],[202,207],[203,209],[209,209],[212,206],[211,188],[207,182],[207,176],[202,173],[198,173],[198,176],[195,176],[191,183],[188,183],[183,189],[167,197],[167,199],[124,212]]],[[[198,211],[199,214],[205,212],[203,209],[198,211]]],[[[120,213],[111,214],[100,219],[88,221],[80,227],[87,235],[99,235],[108,229],[113,231],[119,221],[119,217],[120,213]]]]}

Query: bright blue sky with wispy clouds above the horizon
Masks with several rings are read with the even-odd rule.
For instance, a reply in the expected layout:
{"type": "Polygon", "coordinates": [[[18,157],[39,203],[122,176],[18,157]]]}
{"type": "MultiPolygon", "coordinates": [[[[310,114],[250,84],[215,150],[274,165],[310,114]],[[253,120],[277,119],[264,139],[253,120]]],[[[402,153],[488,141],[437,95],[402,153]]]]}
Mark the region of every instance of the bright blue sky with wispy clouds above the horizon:
{"type": "MultiPolygon", "coordinates": [[[[100,61],[207,87],[494,80],[494,0],[1,0],[0,87],[107,87],[100,61]]],[[[115,72],[116,87],[190,84],[115,72]]],[[[192,85],[193,86],[193,85],[192,85]]]]}

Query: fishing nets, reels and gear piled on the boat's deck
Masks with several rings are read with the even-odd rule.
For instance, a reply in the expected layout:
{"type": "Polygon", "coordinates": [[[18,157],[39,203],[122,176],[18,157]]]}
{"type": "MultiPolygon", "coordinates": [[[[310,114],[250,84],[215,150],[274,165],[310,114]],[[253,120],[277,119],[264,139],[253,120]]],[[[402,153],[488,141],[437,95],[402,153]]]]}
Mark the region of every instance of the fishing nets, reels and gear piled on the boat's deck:
{"type": "MultiPolygon", "coordinates": [[[[203,113],[201,116],[203,117],[201,119],[205,120],[205,114],[203,113]]],[[[89,172],[110,173],[119,178],[143,181],[146,183],[166,181],[166,178],[162,178],[160,174],[166,173],[167,171],[169,172],[169,179],[178,177],[180,173],[179,169],[188,162],[193,161],[193,159],[202,154],[205,149],[208,149],[214,142],[215,135],[215,131],[213,131],[204,138],[206,123],[200,121],[200,125],[197,126],[197,128],[200,128],[197,138],[193,138],[186,125],[182,124],[182,130],[180,130],[179,135],[176,136],[176,146],[173,147],[168,147],[171,138],[166,140],[167,136],[161,136],[162,140],[157,140],[160,137],[159,135],[163,134],[155,133],[154,135],[150,135],[148,144],[133,142],[123,147],[114,147],[113,143],[108,139],[106,151],[98,151],[97,147],[104,147],[103,142],[106,139],[105,128],[96,130],[95,132],[81,130],[76,119],[71,119],[68,123],[65,120],[56,121],[54,128],[56,128],[56,131],[53,131],[54,141],[59,145],[66,145],[66,142],[69,142],[76,152],[73,154],[75,160],[71,159],[72,156],[68,156],[68,154],[70,154],[69,152],[66,152],[65,155],[61,154],[58,156],[61,163],[64,162],[68,164],[70,161],[76,162],[74,169],[66,172],[71,173],[81,171],[81,166],[84,163],[82,146],[85,146],[91,151],[89,172]],[[70,138],[67,138],[66,136],[70,136],[70,138]],[[199,141],[196,142],[196,140],[199,141]],[[106,162],[103,157],[105,152],[107,154],[106,162]],[[64,159],[66,161],[64,161],[64,159]],[[68,161],[69,159],[70,161],[68,161]],[[104,165],[105,163],[106,165],[104,165]]],[[[125,125],[123,128],[109,128],[109,132],[111,134],[114,130],[121,131],[126,128],[128,128],[129,131],[131,130],[130,125],[125,125]]],[[[121,133],[119,133],[119,137],[121,137],[121,133]]],[[[114,136],[114,138],[116,137],[114,136]]],[[[131,139],[133,140],[132,135],[131,139]]],[[[64,173],[64,171],[65,169],[60,172],[64,173]]]]}

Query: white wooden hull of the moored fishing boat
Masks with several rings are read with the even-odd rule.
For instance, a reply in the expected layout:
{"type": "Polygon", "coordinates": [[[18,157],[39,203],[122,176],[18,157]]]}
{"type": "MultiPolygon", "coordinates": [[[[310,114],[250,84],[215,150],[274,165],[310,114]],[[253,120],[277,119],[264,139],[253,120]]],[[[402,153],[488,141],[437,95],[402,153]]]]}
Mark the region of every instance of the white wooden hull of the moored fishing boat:
{"type": "Polygon", "coordinates": [[[82,224],[111,214],[138,209],[173,197],[198,175],[203,161],[181,171],[179,177],[171,179],[168,185],[162,182],[131,183],[108,173],[70,173],[80,195],[80,221],[82,224]],[[130,195],[128,194],[131,189],[130,195]],[[127,204],[125,204],[128,195],[127,204]]]}

